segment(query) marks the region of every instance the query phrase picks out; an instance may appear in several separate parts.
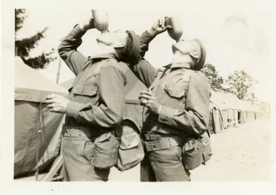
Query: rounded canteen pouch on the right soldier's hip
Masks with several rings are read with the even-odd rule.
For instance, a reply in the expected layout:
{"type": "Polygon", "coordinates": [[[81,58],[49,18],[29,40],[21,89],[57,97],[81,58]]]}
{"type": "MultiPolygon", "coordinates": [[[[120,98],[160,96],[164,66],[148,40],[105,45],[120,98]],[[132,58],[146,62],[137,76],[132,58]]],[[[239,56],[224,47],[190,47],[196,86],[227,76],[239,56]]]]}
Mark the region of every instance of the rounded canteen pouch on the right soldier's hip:
{"type": "Polygon", "coordinates": [[[202,144],[193,138],[188,138],[182,147],[182,161],[186,170],[194,170],[202,164],[202,144]]]}

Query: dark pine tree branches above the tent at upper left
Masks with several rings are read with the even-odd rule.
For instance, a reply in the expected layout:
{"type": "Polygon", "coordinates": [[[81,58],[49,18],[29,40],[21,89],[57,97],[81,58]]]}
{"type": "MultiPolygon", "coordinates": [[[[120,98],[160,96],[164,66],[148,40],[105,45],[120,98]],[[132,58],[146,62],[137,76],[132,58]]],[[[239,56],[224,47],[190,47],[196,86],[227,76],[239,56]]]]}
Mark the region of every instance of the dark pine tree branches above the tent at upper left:
{"type": "Polygon", "coordinates": [[[17,39],[17,32],[21,30],[23,27],[24,20],[27,17],[26,10],[24,9],[15,9],[15,48],[16,55],[21,57],[21,59],[34,69],[43,69],[46,66],[57,59],[57,57],[52,57],[54,49],[50,50],[50,52],[45,53],[42,52],[37,57],[30,57],[30,51],[37,46],[37,43],[45,38],[46,31],[48,28],[44,28],[43,30],[37,32],[32,37],[27,37],[24,39],[17,39]]]}

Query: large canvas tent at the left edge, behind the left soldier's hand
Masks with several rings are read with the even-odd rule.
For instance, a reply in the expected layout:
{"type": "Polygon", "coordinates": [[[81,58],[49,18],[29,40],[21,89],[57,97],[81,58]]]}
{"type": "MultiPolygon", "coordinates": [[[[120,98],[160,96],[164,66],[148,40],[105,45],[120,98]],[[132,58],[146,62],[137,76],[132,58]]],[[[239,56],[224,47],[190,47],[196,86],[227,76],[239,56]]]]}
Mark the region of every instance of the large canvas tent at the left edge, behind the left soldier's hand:
{"type": "Polygon", "coordinates": [[[67,90],[15,58],[14,177],[42,171],[59,155],[63,114],[49,112],[48,94],[67,90]]]}

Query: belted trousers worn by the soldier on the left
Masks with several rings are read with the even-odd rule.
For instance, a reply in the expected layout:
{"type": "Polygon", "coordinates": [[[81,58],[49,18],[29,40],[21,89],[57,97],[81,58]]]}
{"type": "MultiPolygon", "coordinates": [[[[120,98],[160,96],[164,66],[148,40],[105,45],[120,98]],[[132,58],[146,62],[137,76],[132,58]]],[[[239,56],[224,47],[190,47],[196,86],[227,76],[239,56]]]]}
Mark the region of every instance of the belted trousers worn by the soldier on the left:
{"type": "Polygon", "coordinates": [[[63,128],[61,154],[63,155],[64,181],[108,181],[110,169],[93,166],[94,140],[92,130],[63,128]]]}

